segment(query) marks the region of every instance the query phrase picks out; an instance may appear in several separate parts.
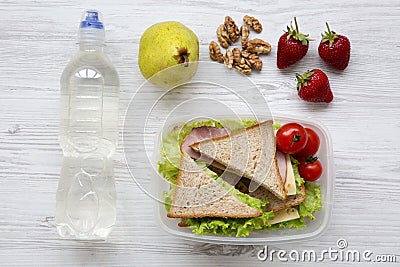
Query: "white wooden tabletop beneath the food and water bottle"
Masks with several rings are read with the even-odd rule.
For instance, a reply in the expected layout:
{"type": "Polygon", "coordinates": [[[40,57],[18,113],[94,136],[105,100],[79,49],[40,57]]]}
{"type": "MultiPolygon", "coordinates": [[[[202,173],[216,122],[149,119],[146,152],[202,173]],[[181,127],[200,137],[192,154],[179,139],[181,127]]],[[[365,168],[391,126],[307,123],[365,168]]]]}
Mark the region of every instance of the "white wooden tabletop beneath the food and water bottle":
{"type": "Polygon", "coordinates": [[[0,3],[0,265],[268,264],[256,257],[262,246],[194,243],[159,229],[151,200],[127,171],[121,145],[114,157],[118,221],[108,242],[58,237],[54,212],[62,161],[57,141],[59,78],[77,49],[77,26],[85,8],[104,15],[106,51],[121,79],[121,125],[130,97],[144,81],[137,66],[140,36],[159,21],[177,20],[189,26],[199,37],[200,58],[208,60],[208,44],[225,15],[237,21],[245,14],[256,16],[264,26],[260,37],[273,44],[262,73],[251,76],[261,89],[267,83],[293,83],[295,72],[325,70],[335,94],[328,107],[302,102],[294,90],[266,94],[273,112],[315,117],[329,128],[337,177],[326,233],[279,248],[320,251],[345,238],[351,249],[397,254],[400,262],[399,1],[83,2],[0,3]],[[293,16],[301,30],[317,41],[301,62],[279,71],[277,40],[293,16]],[[351,61],[343,72],[327,67],[318,57],[325,21],[351,40],[351,61]]]}

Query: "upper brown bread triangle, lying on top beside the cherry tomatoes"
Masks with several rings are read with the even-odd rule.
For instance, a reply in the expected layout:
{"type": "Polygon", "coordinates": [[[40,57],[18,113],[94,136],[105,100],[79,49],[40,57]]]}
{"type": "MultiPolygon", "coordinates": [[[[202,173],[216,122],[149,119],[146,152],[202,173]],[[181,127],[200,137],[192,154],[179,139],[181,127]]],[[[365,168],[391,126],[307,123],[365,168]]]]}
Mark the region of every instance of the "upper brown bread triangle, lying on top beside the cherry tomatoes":
{"type": "MultiPolygon", "coordinates": [[[[276,144],[272,121],[264,121],[231,135],[191,145],[226,170],[255,181],[285,200],[286,191],[275,156],[276,144]]],[[[252,186],[250,186],[252,187],[252,186]]]]}

